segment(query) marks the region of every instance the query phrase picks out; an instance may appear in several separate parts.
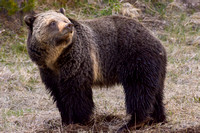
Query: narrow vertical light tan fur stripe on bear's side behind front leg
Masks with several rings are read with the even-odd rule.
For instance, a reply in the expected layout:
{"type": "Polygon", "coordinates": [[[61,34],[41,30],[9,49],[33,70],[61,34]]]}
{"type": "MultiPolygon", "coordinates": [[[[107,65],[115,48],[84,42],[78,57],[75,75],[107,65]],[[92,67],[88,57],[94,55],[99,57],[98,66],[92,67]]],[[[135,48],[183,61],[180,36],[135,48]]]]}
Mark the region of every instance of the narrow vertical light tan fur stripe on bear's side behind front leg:
{"type": "Polygon", "coordinates": [[[103,77],[101,74],[99,60],[97,58],[97,50],[94,48],[94,46],[91,48],[90,56],[93,62],[93,77],[94,77],[93,81],[94,82],[102,81],[103,77]]]}

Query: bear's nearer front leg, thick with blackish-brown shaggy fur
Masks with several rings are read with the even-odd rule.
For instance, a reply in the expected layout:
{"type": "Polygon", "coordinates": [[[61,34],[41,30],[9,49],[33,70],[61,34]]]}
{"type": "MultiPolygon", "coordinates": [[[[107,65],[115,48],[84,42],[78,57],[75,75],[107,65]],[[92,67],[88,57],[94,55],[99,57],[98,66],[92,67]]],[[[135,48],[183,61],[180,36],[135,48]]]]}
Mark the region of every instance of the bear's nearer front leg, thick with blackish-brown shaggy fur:
{"type": "Polygon", "coordinates": [[[94,102],[91,86],[79,78],[60,82],[60,99],[57,107],[63,124],[85,124],[93,113],[94,102]]]}

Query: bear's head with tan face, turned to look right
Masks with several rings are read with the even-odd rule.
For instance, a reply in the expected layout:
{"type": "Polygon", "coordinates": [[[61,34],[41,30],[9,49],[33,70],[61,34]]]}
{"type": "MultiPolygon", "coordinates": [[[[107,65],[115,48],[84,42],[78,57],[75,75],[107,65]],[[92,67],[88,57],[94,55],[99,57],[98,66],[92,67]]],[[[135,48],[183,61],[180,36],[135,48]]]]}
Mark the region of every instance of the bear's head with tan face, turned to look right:
{"type": "Polygon", "coordinates": [[[60,11],[33,13],[24,17],[29,34],[27,49],[30,58],[39,67],[54,67],[54,63],[73,39],[74,26],[60,11]]]}

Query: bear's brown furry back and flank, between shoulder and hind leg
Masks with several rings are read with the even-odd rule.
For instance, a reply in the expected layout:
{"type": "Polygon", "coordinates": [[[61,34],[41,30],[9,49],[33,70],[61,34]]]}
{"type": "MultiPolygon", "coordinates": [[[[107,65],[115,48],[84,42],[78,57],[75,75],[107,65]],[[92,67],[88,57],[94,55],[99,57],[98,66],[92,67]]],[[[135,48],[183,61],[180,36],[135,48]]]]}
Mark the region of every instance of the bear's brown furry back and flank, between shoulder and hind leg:
{"type": "Polygon", "coordinates": [[[129,64],[129,61],[134,62],[138,56],[146,55],[156,59],[163,52],[165,56],[160,41],[131,18],[107,16],[78,23],[84,33],[82,36],[87,40],[83,47],[85,43],[90,47],[87,53],[93,62],[95,84],[118,83],[121,66],[129,64]]]}

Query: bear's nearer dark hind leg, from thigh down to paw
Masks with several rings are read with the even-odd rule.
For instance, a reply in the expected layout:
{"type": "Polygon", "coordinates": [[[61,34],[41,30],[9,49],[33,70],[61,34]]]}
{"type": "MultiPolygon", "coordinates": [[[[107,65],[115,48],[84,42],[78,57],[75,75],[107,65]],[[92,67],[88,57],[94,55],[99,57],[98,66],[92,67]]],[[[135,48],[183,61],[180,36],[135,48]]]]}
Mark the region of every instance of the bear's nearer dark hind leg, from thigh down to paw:
{"type": "MultiPolygon", "coordinates": [[[[131,114],[126,126],[139,128],[153,119],[156,94],[160,91],[160,63],[155,59],[132,57],[123,63],[120,70],[126,109],[131,114]]],[[[157,113],[160,113],[159,110],[157,113]]]]}

